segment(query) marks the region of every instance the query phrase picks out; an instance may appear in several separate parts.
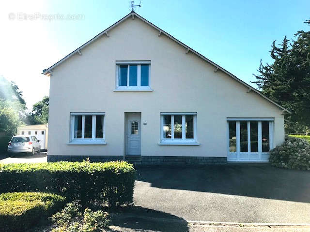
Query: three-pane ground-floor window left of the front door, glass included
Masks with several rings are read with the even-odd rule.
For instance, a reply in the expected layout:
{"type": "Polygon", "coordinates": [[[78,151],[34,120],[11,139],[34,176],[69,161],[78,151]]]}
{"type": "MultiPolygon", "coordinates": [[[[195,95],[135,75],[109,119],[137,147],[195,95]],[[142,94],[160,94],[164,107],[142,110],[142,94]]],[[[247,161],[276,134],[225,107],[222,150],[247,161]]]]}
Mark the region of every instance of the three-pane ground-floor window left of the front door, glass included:
{"type": "Polygon", "coordinates": [[[104,113],[71,113],[71,142],[104,142],[104,113]]]}

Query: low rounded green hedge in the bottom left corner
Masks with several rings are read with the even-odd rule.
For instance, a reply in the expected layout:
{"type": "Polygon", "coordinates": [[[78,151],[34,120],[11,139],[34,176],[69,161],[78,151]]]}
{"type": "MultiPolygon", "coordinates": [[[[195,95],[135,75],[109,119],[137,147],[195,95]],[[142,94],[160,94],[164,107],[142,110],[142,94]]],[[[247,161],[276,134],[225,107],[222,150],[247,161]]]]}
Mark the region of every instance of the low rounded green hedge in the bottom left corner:
{"type": "Polygon", "coordinates": [[[42,192],[0,194],[0,232],[25,231],[46,222],[65,205],[65,197],[42,192]]]}

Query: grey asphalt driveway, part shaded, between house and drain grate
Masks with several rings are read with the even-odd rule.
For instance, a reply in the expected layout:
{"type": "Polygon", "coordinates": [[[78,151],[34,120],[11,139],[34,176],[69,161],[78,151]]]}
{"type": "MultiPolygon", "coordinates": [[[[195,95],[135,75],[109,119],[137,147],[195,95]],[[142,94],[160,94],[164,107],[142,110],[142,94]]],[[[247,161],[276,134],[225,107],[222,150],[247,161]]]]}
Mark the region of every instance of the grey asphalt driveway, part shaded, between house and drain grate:
{"type": "Polygon", "coordinates": [[[269,164],[137,169],[134,203],[146,218],[310,223],[310,172],[269,164]]]}

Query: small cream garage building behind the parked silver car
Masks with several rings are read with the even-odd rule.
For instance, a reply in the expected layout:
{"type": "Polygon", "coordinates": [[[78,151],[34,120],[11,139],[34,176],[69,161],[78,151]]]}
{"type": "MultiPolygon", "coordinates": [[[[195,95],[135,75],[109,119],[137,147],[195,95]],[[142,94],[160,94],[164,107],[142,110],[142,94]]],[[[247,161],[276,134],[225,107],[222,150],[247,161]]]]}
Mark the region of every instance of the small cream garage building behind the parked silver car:
{"type": "Polygon", "coordinates": [[[17,127],[17,134],[33,135],[40,140],[41,150],[47,150],[48,124],[17,127]]]}

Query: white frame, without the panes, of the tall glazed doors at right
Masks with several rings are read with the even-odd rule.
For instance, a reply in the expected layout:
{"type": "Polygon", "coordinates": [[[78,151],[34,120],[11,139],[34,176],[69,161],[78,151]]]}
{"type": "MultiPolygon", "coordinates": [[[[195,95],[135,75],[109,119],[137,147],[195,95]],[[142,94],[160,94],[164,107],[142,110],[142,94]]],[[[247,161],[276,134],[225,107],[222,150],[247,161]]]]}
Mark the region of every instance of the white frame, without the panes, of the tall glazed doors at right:
{"type": "Polygon", "coordinates": [[[265,161],[268,162],[268,159],[263,159],[264,157],[269,157],[269,152],[262,151],[262,122],[269,122],[269,149],[274,148],[274,118],[227,118],[227,150],[228,150],[228,161],[265,161]],[[229,121],[236,122],[236,152],[229,151],[229,121]],[[241,152],[240,147],[240,122],[247,122],[247,131],[248,131],[248,151],[241,152]],[[250,135],[250,122],[257,122],[258,129],[258,152],[251,152],[251,135],[250,135]],[[252,159],[251,155],[257,154],[258,159],[252,159]],[[248,158],[243,159],[241,155],[248,155],[248,158]],[[234,158],[233,158],[234,157],[234,158]]]}

